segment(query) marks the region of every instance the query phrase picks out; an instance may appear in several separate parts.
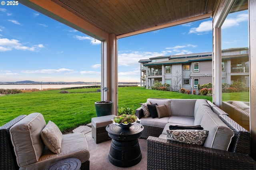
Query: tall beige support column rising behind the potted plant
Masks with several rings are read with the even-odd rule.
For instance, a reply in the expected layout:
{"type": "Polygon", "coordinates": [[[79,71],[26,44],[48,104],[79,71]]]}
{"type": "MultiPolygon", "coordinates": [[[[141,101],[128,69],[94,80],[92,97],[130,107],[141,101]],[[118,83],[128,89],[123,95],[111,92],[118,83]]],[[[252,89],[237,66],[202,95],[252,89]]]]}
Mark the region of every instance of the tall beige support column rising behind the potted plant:
{"type": "Polygon", "coordinates": [[[108,35],[102,42],[101,87],[108,87],[106,96],[101,93],[101,100],[113,102],[112,114],[118,114],[118,50],[116,35],[108,35]]]}

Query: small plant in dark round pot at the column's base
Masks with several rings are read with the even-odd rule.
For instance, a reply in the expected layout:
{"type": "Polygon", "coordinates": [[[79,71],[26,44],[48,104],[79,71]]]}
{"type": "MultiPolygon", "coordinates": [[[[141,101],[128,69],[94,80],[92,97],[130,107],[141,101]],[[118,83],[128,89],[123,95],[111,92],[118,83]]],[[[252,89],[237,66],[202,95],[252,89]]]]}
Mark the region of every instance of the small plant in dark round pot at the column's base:
{"type": "Polygon", "coordinates": [[[109,100],[106,100],[106,92],[108,91],[108,87],[103,87],[102,90],[105,93],[105,101],[99,101],[94,103],[97,117],[111,115],[112,112],[113,103],[109,100]]]}

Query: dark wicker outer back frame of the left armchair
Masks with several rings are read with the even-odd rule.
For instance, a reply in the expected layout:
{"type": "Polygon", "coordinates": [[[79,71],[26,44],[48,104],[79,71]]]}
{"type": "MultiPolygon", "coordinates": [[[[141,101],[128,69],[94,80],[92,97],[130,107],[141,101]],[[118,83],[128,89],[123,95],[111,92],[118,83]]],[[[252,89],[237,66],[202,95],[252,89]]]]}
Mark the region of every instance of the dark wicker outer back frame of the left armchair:
{"type": "Polygon", "coordinates": [[[14,154],[12,142],[10,139],[10,128],[26,117],[26,115],[20,115],[9,121],[5,125],[0,127],[0,169],[1,170],[15,170],[18,169],[16,162],[16,156],[14,154]]]}

